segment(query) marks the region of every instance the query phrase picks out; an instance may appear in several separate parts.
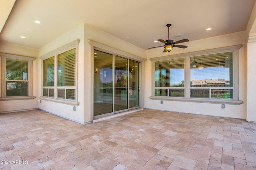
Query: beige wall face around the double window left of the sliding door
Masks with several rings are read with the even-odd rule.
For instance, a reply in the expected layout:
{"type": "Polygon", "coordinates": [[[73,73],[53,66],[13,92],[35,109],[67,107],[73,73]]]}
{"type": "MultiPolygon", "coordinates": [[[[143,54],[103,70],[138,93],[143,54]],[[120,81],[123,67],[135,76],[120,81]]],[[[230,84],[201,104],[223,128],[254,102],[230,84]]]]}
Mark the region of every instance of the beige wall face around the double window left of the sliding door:
{"type": "MultiPolygon", "coordinates": [[[[84,25],[70,30],[61,37],[48,43],[38,51],[38,56],[45,55],[51,51],[54,51],[68,43],[75,40],[80,40],[78,44],[78,102],[79,106],[76,106],[76,111],[73,111],[73,106],[68,104],[61,104],[58,102],[51,102],[38,99],[38,108],[48,111],[50,113],[65,117],[67,119],[76,121],[78,123],[84,123],[84,25]]],[[[38,96],[42,96],[42,60],[38,61],[38,96]]]]}

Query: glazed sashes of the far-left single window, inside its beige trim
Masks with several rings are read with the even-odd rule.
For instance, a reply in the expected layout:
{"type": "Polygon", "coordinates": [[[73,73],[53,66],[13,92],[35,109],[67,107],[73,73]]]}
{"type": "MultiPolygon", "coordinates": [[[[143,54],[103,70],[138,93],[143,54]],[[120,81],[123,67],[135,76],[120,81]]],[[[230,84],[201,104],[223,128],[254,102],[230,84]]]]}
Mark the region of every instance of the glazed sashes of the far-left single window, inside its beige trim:
{"type": "Polygon", "coordinates": [[[6,58],[6,96],[28,96],[28,61],[6,58]]]}

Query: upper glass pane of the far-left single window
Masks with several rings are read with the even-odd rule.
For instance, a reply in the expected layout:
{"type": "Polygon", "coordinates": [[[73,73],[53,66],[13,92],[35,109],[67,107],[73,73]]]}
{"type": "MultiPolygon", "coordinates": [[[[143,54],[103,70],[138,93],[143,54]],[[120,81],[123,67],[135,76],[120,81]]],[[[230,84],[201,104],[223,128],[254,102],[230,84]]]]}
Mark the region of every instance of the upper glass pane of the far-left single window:
{"type": "Polygon", "coordinates": [[[7,58],[6,80],[28,80],[28,61],[7,58]]]}

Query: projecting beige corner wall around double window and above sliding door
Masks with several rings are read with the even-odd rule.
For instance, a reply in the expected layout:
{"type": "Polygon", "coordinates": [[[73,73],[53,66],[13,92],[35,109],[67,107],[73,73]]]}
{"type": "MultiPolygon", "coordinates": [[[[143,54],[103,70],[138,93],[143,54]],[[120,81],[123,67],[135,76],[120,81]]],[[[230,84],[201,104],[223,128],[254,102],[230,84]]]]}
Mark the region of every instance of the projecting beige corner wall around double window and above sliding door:
{"type": "MultiPolygon", "coordinates": [[[[124,51],[139,57],[146,58],[145,51],[121,39],[118,39],[108,33],[105,33],[95,27],[87,24],[81,24],[72,29],[68,33],[55,39],[51,43],[39,49],[39,57],[53,51],[65,44],[68,44],[76,39],[80,39],[78,46],[78,102],[76,111],[73,111],[72,105],[60,104],[42,100],[38,100],[38,108],[54,113],[56,115],[71,119],[79,123],[89,123],[93,120],[91,99],[91,87],[93,84],[93,60],[91,55],[91,46],[88,40],[93,40],[102,43],[114,49],[124,51]]],[[[42,77],[42,60],[38,62],[38,76],[42,77]]],[[[42,94],[42,78],[38,80],[38,96],[42,94]]]]}

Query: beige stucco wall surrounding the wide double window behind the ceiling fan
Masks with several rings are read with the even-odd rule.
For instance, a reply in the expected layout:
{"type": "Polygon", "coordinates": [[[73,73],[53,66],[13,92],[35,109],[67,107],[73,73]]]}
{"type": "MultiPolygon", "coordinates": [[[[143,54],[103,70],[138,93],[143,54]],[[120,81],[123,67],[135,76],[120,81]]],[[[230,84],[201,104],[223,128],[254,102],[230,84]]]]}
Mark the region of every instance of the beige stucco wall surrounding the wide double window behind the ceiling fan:
{"type": "MultiPolygon", "coordinates": [[[[184,43],[185,44],[185,43],[184,43]]],[[[221,117],[235,117],[246,118],[246,31],[232,33],[208,39],[201,39],[198,41],[190,41],[186,43],[188,48],[179,49],[174,48],[170,52],[170,58],[174,54],[189,53],[194,51],[202,51],[206,49],[215,49],[219,47],[228,47],[233,45],[242,45],[239,49],[239,100],[243,103],[240,105],[226,104],[226,108],[222,109],[221,104],[207,104],[207,103],[194,103],[194,102],[176,102],[176,101],[163,101],[160,104],[159,100],[151,100],[152,96],[152,62],[149,60],[154,57],[168,56],[168,53],[162,53],[162,48],[152,49],[146,51],[147,61],[145,64],[145,107],[149,109],[159,109],[166,111],[175,111],[182,113],[195,113],[202,115],[214,115],[221,117]]],[[[153,68],[154,69],[154,68],[153,68]]]]}

